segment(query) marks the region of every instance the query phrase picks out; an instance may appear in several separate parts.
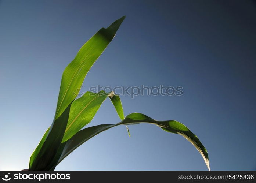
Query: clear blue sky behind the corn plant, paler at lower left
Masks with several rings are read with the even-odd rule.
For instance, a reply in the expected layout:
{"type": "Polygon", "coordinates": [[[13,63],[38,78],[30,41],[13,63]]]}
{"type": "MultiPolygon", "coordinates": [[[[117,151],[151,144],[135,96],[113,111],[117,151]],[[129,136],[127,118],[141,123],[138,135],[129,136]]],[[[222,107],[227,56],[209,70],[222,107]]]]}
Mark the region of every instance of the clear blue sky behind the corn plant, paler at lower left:
{"type": "MultiPolygon", "coordinates": [[[[177,120],[212,170],[256,170],[255,1],[0,0],[0,170],[28,168],[50,126],[62,72],[101,27],[126,15],[86,76],[91,86],[182,86],[182,96],[120,96],[125,115],[177,120]]],[[[106,100],[88,126],[119,122],[106,100]]],[[[207,170],[181,135],[150,124],[93,137],[56,170],[207,170]]]]}

